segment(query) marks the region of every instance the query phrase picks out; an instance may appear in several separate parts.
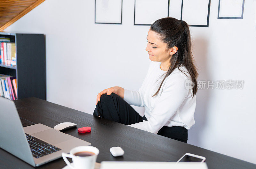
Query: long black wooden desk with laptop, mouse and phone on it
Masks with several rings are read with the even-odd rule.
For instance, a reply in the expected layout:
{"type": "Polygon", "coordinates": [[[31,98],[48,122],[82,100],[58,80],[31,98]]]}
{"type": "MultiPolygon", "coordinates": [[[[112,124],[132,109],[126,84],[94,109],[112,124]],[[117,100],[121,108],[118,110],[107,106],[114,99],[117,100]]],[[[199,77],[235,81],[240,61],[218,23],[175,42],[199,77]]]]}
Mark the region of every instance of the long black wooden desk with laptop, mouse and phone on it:
{"type": "MultiPolygon", "coordinates": [[[[92,143],[100,150],[97,162],[101,161],[178,161],[185,153],[206,157],[211,168],[256,168],[255,164],[209,151],[164,136],[108,121],[68,107],[63,107],[35,97],[15,100],[20,117],[34,123],[54,127],[61,122],[74,122],[80,127],[90,126],[90,133],[79,134],[77,128],[64,132],[92,143]],[[120,146],[123,157],[113,157],[109,149],[120,146]]],[[[37,168],[62,168],[62,158],[37,168]]],[[[0,168],[33,168],[12,154],[0,149],[0,168]]]]}

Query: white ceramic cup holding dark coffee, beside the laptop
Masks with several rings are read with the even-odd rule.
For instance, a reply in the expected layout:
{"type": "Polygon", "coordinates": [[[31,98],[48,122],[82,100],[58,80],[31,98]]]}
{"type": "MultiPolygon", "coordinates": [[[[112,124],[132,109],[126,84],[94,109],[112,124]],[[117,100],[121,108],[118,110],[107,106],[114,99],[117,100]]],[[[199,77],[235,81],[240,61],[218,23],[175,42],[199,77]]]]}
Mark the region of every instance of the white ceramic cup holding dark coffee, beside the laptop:
{"type": "Polygon", "coordinates": [[[97,149],[96,147],[92,147],[92,146],[79,146],[79,147],[75,147],[73,149],[70,150],[69,154],[67,153],[62,153],[62,158],[64,159],[64,161],[67,163],[67,165],[72,168],[72,169],[94,169],[94,165],[97,159],[97,156],[99,154],[99,149],[97,149]],[[93,152],[95,155],[91,155],[91,156],[86,156],[86,157],[80,157],[80,156],[75,156],[74,154],[76,154],[77,152],[82,152],[82,151],[89,151],[89,152],[93,152]],[[73,166],[69,163],[68,158],[72,158],[73,161],[73,166]]]}

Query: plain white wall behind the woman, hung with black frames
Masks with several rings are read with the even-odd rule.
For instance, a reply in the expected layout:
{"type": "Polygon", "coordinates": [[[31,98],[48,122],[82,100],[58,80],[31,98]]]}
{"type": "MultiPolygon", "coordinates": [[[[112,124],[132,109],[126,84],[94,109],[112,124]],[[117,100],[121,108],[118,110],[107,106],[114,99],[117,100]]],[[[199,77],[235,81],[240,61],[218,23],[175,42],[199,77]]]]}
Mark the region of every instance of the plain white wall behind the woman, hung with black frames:
{"type": "MultiPolygon", "coordinates": [[[[255,5],[243,19],[217,19],[190,27],[198,80],[244,80],[244,89],[202,89],[188,143],[256,163],[255,5]]],[[[150,26],[133,26],[134,1],[123,1],[122,25],[94,24],[94,0],[46,0],[5,32],[46,35],[47,101],[89,114],[96,95],[111,86],[138,90],[147,73],[150,26]]],[[[143,108],[136,107],[143,111],[143,108]]]]}

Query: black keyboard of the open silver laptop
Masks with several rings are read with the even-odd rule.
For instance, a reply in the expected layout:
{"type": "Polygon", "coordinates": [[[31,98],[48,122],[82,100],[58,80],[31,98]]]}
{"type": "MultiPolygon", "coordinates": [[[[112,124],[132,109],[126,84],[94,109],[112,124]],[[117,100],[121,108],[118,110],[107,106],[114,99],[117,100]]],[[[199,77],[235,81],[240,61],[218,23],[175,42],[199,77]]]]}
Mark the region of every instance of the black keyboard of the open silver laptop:
{"type": "Polygon", "coordinates": [[[52,144],[48,144],[42,140],[39,140],[36,137],[33,137],[27,133],[26,137],[28,139],[28,144],[30,147],[30,150],[32,152],[33,157],[39,158],[43,157],[45,155],[54,153],[56,151],[60,151],[61,149],[58,147],[53,146],[52,144]]]}

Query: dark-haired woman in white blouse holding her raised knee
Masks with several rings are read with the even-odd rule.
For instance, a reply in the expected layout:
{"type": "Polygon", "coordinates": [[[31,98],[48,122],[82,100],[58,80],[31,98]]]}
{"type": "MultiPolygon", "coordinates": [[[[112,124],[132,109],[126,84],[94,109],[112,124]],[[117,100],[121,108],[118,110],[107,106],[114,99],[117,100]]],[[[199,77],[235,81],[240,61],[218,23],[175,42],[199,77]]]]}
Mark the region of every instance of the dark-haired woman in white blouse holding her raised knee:
{"type": "Polygon", "coordinates": [[[93,115],[187,143],[188,129],[195,123],[198,76],[188,24],[170,17],[156,20],[147,40],[153,62],[140,89],[103,90],[93,115]],[[145,107],[144,116],[130,105],[145,107]]]}

